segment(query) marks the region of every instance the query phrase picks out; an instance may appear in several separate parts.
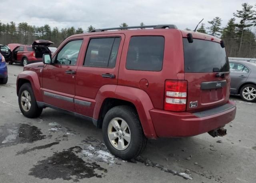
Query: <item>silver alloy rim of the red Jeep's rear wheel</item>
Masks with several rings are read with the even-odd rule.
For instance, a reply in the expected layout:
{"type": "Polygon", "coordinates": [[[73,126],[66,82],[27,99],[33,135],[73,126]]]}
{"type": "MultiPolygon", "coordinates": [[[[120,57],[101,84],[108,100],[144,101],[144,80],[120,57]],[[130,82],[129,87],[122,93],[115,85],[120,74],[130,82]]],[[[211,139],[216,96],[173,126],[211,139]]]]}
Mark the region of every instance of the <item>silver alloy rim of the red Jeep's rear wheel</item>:
{"type": "Polygon", "coordinates": [[[126,121],[120,117],[115,117],[108,124],[108,139],[118,150],[125,150],[131,141],[130,128],[126,121]]]}

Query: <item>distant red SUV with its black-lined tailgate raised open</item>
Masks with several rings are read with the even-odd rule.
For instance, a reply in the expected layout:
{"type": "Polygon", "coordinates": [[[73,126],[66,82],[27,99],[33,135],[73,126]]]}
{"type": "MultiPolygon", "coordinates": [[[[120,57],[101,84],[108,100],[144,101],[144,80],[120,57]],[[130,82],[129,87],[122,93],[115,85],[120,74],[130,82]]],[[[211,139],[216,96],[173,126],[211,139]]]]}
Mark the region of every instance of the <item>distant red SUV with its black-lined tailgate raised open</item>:
{"type": "Polygon", "coordinates": [[[34,62],[42,62],[43,54],[50,54],[48,46],[53,44],[48,40],[36,40],[32,45],[8,44],[11,52],[9,64],[16,63],[26,66],[34,62]]]}

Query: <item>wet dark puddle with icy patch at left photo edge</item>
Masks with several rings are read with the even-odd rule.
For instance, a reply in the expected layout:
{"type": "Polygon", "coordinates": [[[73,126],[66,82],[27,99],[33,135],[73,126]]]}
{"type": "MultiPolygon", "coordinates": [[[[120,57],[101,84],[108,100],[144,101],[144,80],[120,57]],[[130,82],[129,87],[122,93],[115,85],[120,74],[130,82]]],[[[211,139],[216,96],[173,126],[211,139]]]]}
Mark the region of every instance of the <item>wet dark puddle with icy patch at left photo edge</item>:
{"type": "Polygon", "coordinates": [[[0,126],[0,147],[18,143],[33,143],[45,139],[38,127],[29,124],[5,124],[0,126]]]}

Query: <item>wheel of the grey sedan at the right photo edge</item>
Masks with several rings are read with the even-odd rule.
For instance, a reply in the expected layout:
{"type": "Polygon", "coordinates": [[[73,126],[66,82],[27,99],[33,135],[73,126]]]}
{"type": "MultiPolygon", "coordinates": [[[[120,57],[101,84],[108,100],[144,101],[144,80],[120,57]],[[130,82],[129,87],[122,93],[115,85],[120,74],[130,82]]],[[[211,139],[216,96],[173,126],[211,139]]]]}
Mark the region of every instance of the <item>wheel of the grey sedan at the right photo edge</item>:
{"type": "Polygon", "coordinates": [[[240,90],[240,96],[244,101],[255,102],[256,101],[256,85],[246,84],[240,90]]]}

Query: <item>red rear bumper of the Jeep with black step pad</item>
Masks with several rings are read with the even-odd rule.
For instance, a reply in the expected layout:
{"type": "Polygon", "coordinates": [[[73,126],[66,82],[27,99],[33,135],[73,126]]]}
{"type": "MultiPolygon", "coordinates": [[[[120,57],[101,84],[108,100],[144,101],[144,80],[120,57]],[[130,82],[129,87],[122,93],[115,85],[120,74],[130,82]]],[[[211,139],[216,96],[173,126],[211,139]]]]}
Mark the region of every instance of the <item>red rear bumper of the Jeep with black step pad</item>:
{"type": "Polygon", "coordinates": [[[229,101],[214,109],[197,113],[150,110],[158,137],[189,137],[222,127],[236,116],[236,106],[229,101]]]}

